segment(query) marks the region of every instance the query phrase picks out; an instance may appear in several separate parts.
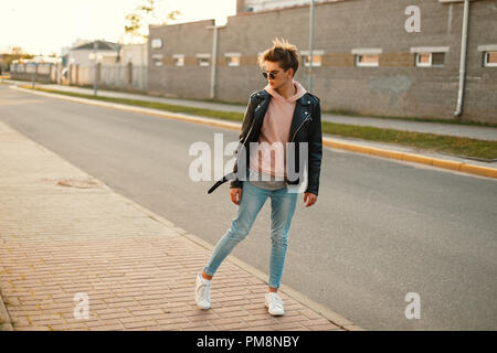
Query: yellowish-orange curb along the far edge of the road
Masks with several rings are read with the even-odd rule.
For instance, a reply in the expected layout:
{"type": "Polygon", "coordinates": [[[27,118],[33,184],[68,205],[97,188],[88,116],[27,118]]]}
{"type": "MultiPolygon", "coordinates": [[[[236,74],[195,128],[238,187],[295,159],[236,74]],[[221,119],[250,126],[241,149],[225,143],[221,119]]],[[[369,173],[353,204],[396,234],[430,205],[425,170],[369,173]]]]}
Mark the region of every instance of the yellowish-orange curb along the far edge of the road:
{"type": "MultiPolygon", "coordinates": [[[[139,113],[139,114],[148,114],[148,115],[175,119],[175,120],[210,125],[210,126],[221,127],[221,128],[225,128],[225,129],[230,129],[230,130],[240,131],[240,128],[241,128],[240,122],[221,121],[218,119],[194,117],[194,116],[189,116],[189,115],[184,115],[184,114],[166,113],[166,111],[150,109],[150,108],[131,107],[131,106],[127,106],[127,105],[123,105],[123,104],[99,101],[99,100],[93,100],[93,99],[88,99],[88,98],[71,97],[71,96],[65,96],[65,95],[60,95],[60,94],[54,94],[54,93],[36,92],[33,89],[21,88],[18,86],[11,86],[11,87],[13,87],[14,89],[29,92],[31,94],[35,94],[35,95],[40,95],[40,96],[56,97],[60,99],[83,103],[83,104],[91,104],[91,105],[96,105],[96,106],[101,106],[101,107],[120,109],[120,110],[139,113]]],[[[497,169],[494,169],[494,168],[487,168],[487,167],[480,167],[480,165],[468,164],[468,163],[463,163],[463,162],[443,160],[443,159],[431,158],[431,157],[408,153],[408,152],[398,152],[398,151],[380,149],[380,148],[376,148],[376,147],[356,145],[356,143],[351,143],[351,142],[335,141],[335,140],[326,138],[326,137],[322,138],[322,145],[326,147],[347,150],[347,151],[362,153],[362,154],[371,154],[371,156],[377,156],[377,157],[382,157],[382,158],[388,158],[388,159],[401,160],[401,161],[405,161],[405,162],[414,162],[414,163],[426,164],[426,165],[431,165],[431,167],[435,167],[435,168],[458,171],[458,172],[463,172],[463,173],[467,173],[467,174],[474,174],[474,175],[479,175],[479,176],[497,179],[497,169]]]]}

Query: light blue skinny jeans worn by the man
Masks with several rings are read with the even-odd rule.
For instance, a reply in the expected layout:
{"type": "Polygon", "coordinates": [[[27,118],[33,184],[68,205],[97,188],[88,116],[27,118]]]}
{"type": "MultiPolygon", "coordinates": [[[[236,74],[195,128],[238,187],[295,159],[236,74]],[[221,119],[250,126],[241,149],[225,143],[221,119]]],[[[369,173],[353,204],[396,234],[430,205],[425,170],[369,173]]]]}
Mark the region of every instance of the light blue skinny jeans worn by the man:
{"type": "Polygon", "coordinates": [[[295,213],[298,193],[290,193],[286,188],[265,190],[243,181],[242,199],[239,211],[231,223],[230,229],[215,245],[205,274],[214,276],[218,267],[231,250],[242,242],[252,228],[255,217],[264,205],[267,196],[271,197],[271,258],[268,286],[279,288],[279,281],[285,264],[288,229],[295,213]]]}

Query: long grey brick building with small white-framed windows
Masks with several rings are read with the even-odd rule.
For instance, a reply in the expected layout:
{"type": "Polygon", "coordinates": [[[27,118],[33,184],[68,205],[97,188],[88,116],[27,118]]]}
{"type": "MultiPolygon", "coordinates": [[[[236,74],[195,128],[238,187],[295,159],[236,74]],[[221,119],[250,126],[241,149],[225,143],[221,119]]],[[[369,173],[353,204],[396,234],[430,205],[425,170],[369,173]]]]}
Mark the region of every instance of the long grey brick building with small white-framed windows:
{"type": "MultiPolygon", "coordinates": [[[[468,9],[458,119],[497,124],[497,0],[473,0],[468,9]]],[[[461,0],[316,2],[313,93],[324,110],[455,119],[463,18],[461,0]],[[405,26],[412,4],[419,32],[405,26]]],[[[298,46],[295,79],[307,87],[309,6],[297,4],[239,12],[223,26],[214,20],[150,26],[149,92],[246,103],[266,84],[256,58],[276,36],[298,46]]]]}

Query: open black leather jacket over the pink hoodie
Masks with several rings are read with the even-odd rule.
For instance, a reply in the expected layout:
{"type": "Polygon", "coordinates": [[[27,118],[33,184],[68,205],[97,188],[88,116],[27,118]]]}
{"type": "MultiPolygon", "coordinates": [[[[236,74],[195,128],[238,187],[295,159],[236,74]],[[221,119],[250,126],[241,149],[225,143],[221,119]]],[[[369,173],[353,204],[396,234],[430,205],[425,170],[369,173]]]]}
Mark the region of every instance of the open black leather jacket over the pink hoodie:
{"type": "MultiPolygon", "coordinates": [[[[257,142],[261,127],[269,106],[272,96],[264,89],[251,95],[245,110],[245,117],[242,124],[242,130],[239,139],[237,151],[245,153],[246,171],[248,173],[248,143],[257,142]],[[241,148],[243,146],[243,148],[241,148]]],[[[297,99],[289,130],[289,142],[295,142],[295,170],[299,170],[299,142],[307,142],[307,164],[308,182],[305,192],[318,194],[319,174],[321,170],[322,157],[322,132],[321,132],[321,108],[319,98],[306,93],[297,99]]],[[[288,165],[289,163],[287,163],[288,165]]],[[[287,167],[288,168],[288,167],[287,167]]],[[[224,175],[218,181],[208,193],[213,192],[219,185],[231,180],[230,188],[242,188],[243,183],[237,178],[237,160],[232,173],[224,175]]],[[[246,180],[246,179],[245,179],[246,180]]],[[[299,184],[299,178],[296,180],[286,180],[287,184],[299,184]]]]}

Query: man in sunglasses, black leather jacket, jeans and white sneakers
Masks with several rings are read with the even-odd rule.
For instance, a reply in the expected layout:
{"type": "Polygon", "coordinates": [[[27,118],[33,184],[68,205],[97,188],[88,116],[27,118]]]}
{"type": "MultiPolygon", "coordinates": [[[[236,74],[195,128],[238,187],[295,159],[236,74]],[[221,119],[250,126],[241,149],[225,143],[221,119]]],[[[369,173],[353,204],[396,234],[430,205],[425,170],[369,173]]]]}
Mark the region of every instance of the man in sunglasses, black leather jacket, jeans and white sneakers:
{"type": "Polygon", "coordinates": [[[287,236],[294,216],[298,186],[302,182],[300,158],[307,167],[306,207],[317,201],[322,156],[322,133],[319,98],[306,93],[294,81],[299,54],[287,41],[274,40],[258,64],[267,86],[251,95],[240,135],[241,149],[233,173],[225,175],[209,190],[231,181],[231,201],[239,205],[230,229],[218,242],[208,265],[197,276],[195,301],[201,309],[211,306],[212,277],[223,259],[248,234],[255,217],[267,197],[271,199],[271,259],[268,291],[265,306],[272,315],[285,310],[277,290],[279,287],[287,236]],[[257,148],[253,148],[256,143],[257,148]],[[284,146],[286,149],[278,149],[284,146]],[[294,146],[294,153],[289,153],[294,146]],[[305,147],[305,148],[302,148],[305,147]],[[250,153],[247,152],[250,151],[250,153]],[[275,152],[276,158],[273,158],[275,152]],[[303,156],[300,156],[300,153],[303,156]],[[295,176],[295,172],[299,173],[295,176]],[[248,176],[246,179],[245,176],[248,176]]]}

